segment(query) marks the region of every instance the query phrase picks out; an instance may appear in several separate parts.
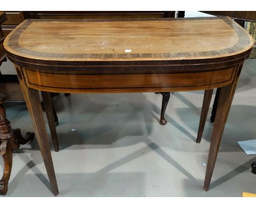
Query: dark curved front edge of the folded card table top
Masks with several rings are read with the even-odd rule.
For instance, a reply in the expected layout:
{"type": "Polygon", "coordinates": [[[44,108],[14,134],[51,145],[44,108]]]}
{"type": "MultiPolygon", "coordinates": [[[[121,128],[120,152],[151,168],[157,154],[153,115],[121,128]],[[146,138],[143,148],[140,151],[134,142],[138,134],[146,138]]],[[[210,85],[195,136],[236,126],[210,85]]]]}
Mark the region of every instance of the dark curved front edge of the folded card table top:
{"type": "MultiPolygon", "coordinates": [[[[211,60],[206,60],[205,62],[202,61],[201,64],[195,64],[194,62],[187,63],[182,65],[182,60],[177,61],[175,63],[166,63],[160,61],[152,61],[148,63],[147,61],[138,61],[138,62],[58,62],[58,65],[49,65],[40,63],[28,63],[28,62],[21,62],[17,59],[13,59],[12,57],[8,57],[11,62],[16,63],[18,65],[24,66],[29,69],[40,70],[40,71],[54,71],[54,72],[86,72],[86,73],[101,73],[101,74],[109,74],[109,73],[152,73],[152,72],[172,72],[179,70],[181,72],[187,71],[205,71],[205,70],[215,70],[215,69],[225,69],[230,66],[234,66],[235,64],[239,64],[246,60],[249,57],[249,53],[246,54],[245,57],[230,60],[226,62],[219,62],[214,63],[211,60]],[[61,65],[63,64],[63,65],[61,65]],[[218,67],[217,67],[218,65],[218,67]]],[[[205,59],[203,59],[205,60],[205,59]]]]}

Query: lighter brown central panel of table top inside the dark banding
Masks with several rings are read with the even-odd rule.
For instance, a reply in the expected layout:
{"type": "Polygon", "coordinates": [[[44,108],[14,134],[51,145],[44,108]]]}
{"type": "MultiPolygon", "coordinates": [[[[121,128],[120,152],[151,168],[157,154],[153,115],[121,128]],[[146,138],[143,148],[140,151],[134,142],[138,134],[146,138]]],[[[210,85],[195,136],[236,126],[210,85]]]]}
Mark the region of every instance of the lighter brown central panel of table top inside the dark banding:
{"type": "Polygon", "coordinates": [[[226,27],[222,20],[201,20],[194,21],[193,24],[191,20],[33,21],[19,37],[19,45],[22,48],[42,54],[49,53],[48,58],[54,58],[51,54],[58,54],[58,59],[67,60],[80,60],[83,58],[79,57],[80,54],[90,59],[94,57],[86,54],[106,54],[114,58],[113,54],[122,54],[125,50],[131,51],[127,54],[150,53],[153,56],[158,56],[159,53],[219,51],[235,46],[238,41],[236,32],[231,27],[226,27]],[[214,33],[207,29],[216,25],[218,29],[213,30],[214,33]],[[200,30],[193,29],[195,27],[200,30]],[[198,38],[198,33],[203,39],[198,38]],[[74,58],[69,58],[70,54],[74,58]]]}

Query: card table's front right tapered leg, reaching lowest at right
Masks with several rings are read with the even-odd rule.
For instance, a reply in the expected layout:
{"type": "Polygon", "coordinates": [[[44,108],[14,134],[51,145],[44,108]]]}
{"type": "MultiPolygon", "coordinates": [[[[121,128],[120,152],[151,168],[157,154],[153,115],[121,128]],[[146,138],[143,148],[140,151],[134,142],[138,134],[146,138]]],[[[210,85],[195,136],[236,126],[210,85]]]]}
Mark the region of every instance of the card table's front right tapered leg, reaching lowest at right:
{"type": "Polygon", "coordinates": [[[238,76],[240,75],[241,69],[242,69],[242,65],[240,65],[240,68],[238,69],[237,77],[234,83],[220,88],[218,108],[217,108],[216,118],[213,126],[211,145],[210,145],[208,162],[206,167],[205,183],[203,185],[203,189],[205,191],[208,191],[208,188],[210,186],[213,169],[214,169],[217,155],[218,155],[220,140],[222,139],[222,134],[224,131],[226,119],[228,118],[229,109],[235,94],[236,83],[237,83],[238,76]]]}

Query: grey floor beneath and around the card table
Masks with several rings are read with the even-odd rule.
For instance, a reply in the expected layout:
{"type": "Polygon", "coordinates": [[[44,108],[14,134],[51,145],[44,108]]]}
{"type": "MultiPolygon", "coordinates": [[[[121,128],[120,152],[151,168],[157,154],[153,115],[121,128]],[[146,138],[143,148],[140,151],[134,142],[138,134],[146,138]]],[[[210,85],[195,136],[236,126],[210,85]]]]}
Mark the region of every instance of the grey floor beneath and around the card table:
{"type": "MultiPolygon", "coordinates": [[[[57,97],[60,151],[54,152],[52,145],[51,149],[59,197],[238,197],[243,191],[256,193],[256,175],[251,173],[255,155],[246,155],[237,144],[256,139],[255,66],[256,60],[250,59],[242,70],[208,192],[202,185],[213,126],[210,116],[202,142],[195,143],[203,91],[171,94],[165,126],[159,125],[158,94],[57,97]]],[[[11,126],[20,127],[23,133],[33,131],[24,103],[5,106],[11,126]]],[[[8,196],[53,196],[36,139],[13,155],[8,196]]]]}

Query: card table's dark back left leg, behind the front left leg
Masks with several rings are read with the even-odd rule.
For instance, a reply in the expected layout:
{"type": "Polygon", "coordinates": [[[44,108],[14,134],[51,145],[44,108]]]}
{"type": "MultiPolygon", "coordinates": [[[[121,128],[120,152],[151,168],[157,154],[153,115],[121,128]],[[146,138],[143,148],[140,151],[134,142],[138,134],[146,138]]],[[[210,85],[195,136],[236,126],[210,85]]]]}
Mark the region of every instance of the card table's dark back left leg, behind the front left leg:
{"type": "Polygon", "coordinates": [[[53,140],[54,150],[57,152],[59,151],[59,144],[58,144],[56,126],[55,126],[55,117],[54,117],[55,109],[53,106],[53,100],[51,98],[50,93],[46,91],[41,91],[41,93],[44,101],[44,109],[45,109],[46,117],[48,119],[48,124],[51,132],[51,139],[53,140]]]}

